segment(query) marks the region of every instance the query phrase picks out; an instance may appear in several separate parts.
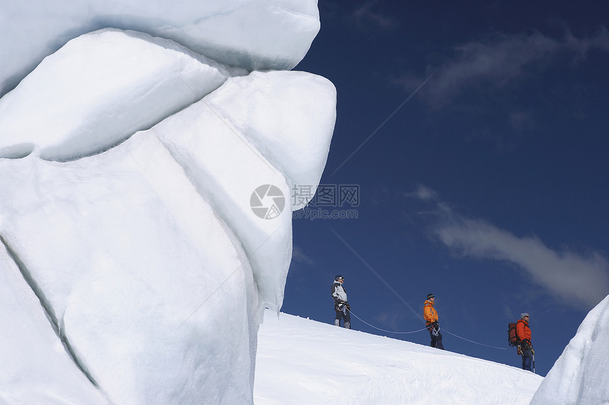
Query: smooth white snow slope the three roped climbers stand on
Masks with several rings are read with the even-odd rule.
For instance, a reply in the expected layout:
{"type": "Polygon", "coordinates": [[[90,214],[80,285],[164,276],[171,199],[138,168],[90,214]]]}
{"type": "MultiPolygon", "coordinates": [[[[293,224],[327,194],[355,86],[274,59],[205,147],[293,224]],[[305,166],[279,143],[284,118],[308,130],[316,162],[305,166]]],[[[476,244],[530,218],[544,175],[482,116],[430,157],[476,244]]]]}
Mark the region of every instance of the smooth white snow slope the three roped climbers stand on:
{"type": "Polygon", "coordinates": [[[266,311],[256,405],[528,404],[532,372],[266,311]]]}

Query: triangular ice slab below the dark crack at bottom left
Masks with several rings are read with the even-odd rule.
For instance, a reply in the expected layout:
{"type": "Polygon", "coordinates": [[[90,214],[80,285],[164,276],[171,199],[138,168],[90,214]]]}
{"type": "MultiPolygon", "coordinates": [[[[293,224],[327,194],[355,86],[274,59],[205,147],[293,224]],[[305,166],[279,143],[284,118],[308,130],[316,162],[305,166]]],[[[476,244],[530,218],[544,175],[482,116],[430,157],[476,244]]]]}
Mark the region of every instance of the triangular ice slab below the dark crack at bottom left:
{"type": "Polygon", "coordinates": [[[1,404],[107,404],[74,367],[4,245],[0,308],[1,404]]]}

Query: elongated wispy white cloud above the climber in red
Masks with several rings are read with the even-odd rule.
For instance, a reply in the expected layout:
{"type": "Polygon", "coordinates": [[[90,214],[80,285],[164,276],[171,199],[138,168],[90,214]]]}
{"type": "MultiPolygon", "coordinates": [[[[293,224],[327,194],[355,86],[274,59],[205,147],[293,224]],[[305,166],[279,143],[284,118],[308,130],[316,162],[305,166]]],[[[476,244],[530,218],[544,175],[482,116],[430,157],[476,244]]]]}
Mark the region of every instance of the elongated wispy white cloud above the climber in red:
{"type": "Polygon", "coordinates": [[[433,234],[455,254],[516,264],[533,282],[578,307],[593,307],[609,294],[609,262],[598,252],[552,250],[538,237],[518,237],[487,221],[463,218],[426,186],[419,185],[410,195],[436,202],[433,234]]]}

